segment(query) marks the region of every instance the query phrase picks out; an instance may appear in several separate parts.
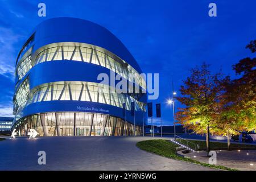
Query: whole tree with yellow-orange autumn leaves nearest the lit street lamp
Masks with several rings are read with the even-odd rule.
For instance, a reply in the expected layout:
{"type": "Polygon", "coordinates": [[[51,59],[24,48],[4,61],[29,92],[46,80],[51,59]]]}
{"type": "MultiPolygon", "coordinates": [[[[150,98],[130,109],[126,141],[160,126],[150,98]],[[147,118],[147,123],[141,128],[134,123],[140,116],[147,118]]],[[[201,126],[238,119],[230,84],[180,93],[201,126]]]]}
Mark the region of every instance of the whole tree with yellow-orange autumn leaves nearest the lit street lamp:
{"type": "Polygon", "coordinates": [[[228,77],[223,77],[221,73],[212,74],[209,65],[203,63],[201,67],[191,70],[191,76],[180,87],[182,97],[176,97],[185,105],[176,113],[177,121],[197,134],[206,135],[208,153],[210,133],[216,131],[213,116],[218,111],[217,103],[220,102],[220,96],[224,92],[223,85],[227,80],[228,77]]]}

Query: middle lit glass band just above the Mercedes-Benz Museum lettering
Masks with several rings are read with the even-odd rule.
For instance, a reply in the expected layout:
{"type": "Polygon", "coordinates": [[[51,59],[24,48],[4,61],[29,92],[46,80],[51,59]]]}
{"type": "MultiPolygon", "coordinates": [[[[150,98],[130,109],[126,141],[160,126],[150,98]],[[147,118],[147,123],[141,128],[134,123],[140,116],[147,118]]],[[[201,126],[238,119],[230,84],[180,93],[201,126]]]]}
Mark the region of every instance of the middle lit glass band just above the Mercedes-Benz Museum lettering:
{"type": "Polygon", "coordinates": [[[122,104],[126,102],[127,110],[130,110],[130,103],[135,102],[135,110],[143,110],[143,103],[135,100],[129,94],[110,93],[110,86],[94,82],[72,82],[69,84],[53,82],[36,89],[27,105],[55,100],[99,102],[121,108],[122,104]]]}

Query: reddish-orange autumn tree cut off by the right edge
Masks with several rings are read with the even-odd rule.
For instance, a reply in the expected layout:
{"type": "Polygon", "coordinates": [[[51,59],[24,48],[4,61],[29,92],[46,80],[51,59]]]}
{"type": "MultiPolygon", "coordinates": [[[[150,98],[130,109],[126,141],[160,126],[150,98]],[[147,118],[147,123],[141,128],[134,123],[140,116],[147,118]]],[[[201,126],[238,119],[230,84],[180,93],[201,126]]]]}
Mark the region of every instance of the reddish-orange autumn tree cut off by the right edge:
{"type": "MultiPolygon", "coordinates": [[[[252,53],[256,52],[256,40],[246,46],[252,53]]],[[[239,131],[256,129],[256,58],[246,57],[233,65],[236,75],[240,76],[225,83],[225,93],[218,103],[218,114],[215,115],[218,134],[228,137],[239,131]]]]}

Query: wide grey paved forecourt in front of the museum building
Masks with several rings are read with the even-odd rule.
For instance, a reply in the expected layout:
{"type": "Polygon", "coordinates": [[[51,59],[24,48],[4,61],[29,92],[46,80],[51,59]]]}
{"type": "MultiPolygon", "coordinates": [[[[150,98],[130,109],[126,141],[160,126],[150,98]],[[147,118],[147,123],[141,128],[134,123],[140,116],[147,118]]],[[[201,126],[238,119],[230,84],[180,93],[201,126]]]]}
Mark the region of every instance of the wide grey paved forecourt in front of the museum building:
{"type": "Polygon", "coordinates": [[[164,158],[135,146],[137,142],[146,139],[152,138],[6,139],[0,142],[0,170],[213,170],[164,158]],[[41,150],[46,152],[46,165],[38,164],[38,151],[41,150]]]}

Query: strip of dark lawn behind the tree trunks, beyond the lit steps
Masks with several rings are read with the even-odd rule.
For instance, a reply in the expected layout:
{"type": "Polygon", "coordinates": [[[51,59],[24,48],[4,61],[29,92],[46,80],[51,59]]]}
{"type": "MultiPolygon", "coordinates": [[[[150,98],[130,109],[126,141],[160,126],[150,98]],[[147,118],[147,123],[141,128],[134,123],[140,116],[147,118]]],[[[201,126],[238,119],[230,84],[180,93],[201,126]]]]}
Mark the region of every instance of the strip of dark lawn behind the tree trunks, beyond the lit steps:
{"type": "MultiPolygon", "coordinates": [[[[200,148],[199,150],[206,150],[206,143],[205,141],[201,141],[201,140],[188,140],[189,142],[192,142],[194,144],[199,144],[200,148]]],[[[192,147],[194,148],[194,145],[191,143],[185,142],[185,140],[181,141],[179,139],[177,139],[177,142],[183,143],[186,146],[192,147]]],[[[231,143],[230,145],[231,149],[254,149],[256,150],[256,146],[252,145],[252,144],[236,144],[236,143],[231,143]]],[[[228,144],[227,143],[222,143],[222,142],[210,142],[210,148],[212,150],[225,150],[228,149],[228,144]]]]}

